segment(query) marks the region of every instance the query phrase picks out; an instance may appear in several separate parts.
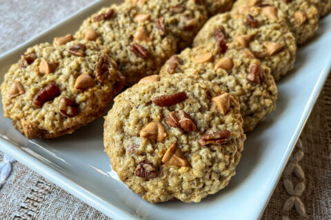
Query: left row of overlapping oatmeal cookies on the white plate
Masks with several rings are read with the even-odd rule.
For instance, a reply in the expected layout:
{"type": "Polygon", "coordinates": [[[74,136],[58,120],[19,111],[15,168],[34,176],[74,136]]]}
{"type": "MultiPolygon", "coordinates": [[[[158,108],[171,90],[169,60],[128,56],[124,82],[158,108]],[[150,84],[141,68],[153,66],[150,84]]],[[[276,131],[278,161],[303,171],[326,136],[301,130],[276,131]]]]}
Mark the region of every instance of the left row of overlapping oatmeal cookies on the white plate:
{"type": "MultiPolygon", "coordinates": [[[[215,4],[228,9],[232,0],[215,4]]],[[[120,72],[132,85],[190,44],[205,5],[214,1],[127,1],[93,14],[74,36],[29,48],[1,85],[5,117],[30,139],[72,133],[121,91],[120,72]]]]}

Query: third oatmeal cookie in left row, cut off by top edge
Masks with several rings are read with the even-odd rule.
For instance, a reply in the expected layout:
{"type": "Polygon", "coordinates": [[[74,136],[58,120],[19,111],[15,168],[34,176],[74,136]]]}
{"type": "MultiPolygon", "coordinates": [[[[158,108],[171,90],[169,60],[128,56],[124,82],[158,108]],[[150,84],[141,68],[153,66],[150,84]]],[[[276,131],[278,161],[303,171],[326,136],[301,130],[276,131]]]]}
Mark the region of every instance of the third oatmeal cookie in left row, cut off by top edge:
{"type": "MultiPolygon", "coordinates": [[[[223,0],[222,0],[223,1],[223,0]]],[[[196,0],[127,0],[142,13],[156,18],[157,28],[177,40],[179,50],[188,47],[208,19],[205,5],[196,0]]]]}

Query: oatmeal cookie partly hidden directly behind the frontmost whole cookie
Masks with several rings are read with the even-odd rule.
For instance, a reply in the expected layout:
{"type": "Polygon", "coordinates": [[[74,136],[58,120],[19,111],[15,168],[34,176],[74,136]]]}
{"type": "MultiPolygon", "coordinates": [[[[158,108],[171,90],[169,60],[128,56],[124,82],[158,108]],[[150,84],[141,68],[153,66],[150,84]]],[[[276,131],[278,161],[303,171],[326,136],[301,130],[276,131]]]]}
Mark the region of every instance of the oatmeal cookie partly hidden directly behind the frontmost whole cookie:
{"type": "Polygon", "coordinates": [[[252,131],[276,107],[277,87],[270,69],[249,50],[220,53],[214,44],[186,49],[161,68],[160,75],[199,76],[221,87],[241,104],[243,130],[252,131]]]}

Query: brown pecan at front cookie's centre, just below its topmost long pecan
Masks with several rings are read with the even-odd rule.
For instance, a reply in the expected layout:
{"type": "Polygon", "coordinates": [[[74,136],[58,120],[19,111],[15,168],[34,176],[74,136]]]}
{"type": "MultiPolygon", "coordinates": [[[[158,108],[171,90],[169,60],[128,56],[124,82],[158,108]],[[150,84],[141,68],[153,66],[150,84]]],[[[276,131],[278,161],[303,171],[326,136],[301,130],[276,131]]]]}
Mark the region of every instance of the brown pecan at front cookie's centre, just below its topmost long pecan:
{"type": "Polygon", "coordinates": [[[165,119],[165,124],[184,131],[197,130],[197,125],[193,122],[190,115],[183,110],[172,111],[165,119]]]}

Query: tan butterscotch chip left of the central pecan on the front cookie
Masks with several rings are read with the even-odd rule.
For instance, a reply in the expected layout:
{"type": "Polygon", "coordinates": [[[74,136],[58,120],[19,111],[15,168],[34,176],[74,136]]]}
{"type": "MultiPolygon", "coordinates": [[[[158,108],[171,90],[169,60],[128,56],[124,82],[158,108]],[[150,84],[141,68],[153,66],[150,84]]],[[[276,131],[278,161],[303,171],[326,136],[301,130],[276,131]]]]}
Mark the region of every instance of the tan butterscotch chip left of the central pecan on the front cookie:
{"type": "Polygon", "coordinates": [[[157,142],[163,142],[167,133],[160,122],[150,122],[139,132],[140,137],[146,137],[157,142]]]}

